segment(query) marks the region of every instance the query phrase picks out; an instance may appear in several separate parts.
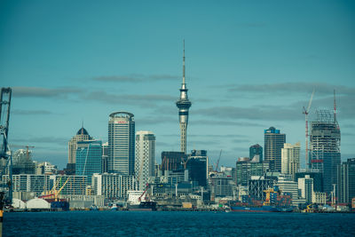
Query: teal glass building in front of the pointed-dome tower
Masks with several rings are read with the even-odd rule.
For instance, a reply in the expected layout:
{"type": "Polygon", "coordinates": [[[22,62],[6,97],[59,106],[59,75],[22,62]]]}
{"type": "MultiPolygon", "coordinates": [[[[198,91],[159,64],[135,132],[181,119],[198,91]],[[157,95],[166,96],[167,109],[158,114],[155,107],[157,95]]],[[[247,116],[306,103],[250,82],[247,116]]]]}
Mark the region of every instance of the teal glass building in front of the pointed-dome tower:
{"type": "Polygon", "coordinates": [[[87,176],[91,184],[91,176],[102,170],[101,141],[79,141],[76,148],[75,175],[87,176]]]}

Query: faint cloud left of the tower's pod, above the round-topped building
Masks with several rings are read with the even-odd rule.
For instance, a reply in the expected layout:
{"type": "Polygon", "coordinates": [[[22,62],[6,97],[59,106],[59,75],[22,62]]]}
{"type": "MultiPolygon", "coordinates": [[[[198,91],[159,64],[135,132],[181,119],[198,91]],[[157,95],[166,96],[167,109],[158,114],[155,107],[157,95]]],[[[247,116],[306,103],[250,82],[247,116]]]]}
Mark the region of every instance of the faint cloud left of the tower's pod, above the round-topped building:
{"type": "Polygon", "coordinates": [[[138,105],[142,107],[153,107],[158,103],[161,102],[171,102],[174,101],[176,98],[169,96],[169,95],[158,95],[158,94],[151,94],[151,95],[133,95],[133,94],[110,94],[106,91],[92,91],[86,95],[83,95],[82,99],[85,100],[95,100],[104,103],[110,104],[127,104],[127,105],[138,105]]]}

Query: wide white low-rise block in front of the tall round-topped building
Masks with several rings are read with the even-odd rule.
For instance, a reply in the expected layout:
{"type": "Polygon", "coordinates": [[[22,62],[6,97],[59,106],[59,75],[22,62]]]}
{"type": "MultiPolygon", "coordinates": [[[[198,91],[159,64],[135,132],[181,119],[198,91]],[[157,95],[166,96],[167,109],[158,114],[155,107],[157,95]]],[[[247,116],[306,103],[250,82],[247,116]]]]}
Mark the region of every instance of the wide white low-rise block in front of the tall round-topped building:
{"type": "Polygon", "coordinates": [[[92,187],[94,194],[103,195],[108,199],[127,199],[129,190],[136,190],[134,176],[120,175],[117,173],[94,174],[92,187]]]}

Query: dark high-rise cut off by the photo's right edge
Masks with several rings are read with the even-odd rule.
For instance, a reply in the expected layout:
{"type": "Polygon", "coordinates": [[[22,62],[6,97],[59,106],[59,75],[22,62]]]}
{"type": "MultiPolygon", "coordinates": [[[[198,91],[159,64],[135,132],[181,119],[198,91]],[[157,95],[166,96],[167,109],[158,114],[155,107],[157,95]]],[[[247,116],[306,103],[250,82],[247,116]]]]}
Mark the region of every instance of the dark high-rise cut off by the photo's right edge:
{"type": "Polygon", "coordinates": [[[355,198],[355,158],[338,165],[337,198],[339,202],[351,203],[355,198]]]}

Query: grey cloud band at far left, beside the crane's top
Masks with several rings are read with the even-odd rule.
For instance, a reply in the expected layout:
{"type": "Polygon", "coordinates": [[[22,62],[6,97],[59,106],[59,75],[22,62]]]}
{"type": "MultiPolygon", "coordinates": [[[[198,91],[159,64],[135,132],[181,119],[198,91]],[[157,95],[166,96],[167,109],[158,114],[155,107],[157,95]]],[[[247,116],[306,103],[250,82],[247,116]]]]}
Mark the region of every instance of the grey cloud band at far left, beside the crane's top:
{"type": "Polygon", "coordinates": [[[61,87],[57,89],[43,87],[12,87],[12,95],[17,98],[67,98],[69,94],[79,93],[82,90],[61,87]]]}

